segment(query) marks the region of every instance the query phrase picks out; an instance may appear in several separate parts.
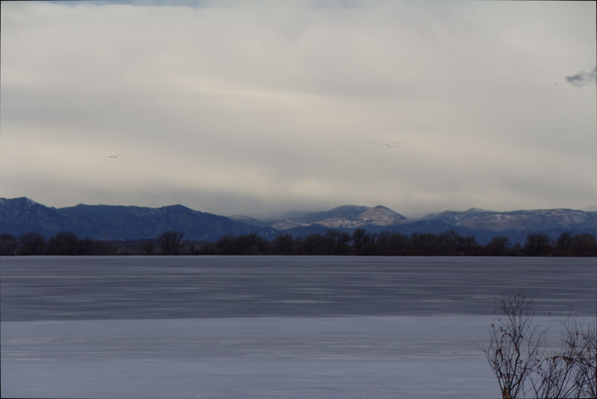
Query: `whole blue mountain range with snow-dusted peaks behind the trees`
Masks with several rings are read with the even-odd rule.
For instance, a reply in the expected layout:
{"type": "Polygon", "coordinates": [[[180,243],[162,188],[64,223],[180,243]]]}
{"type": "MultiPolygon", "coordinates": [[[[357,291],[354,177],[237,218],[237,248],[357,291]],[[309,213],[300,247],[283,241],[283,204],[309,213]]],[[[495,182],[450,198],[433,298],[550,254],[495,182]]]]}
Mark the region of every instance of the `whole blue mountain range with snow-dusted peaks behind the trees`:
{"type": "Polygon", "coordinates": [[[513,243],[524,243],[530,232],[542,232],[552,238],[564,231],[597,234],[597,211],[571,209],[498,212],[470,208],[408,219],[381,205],[343,205],[321,212],[293,211],[285,216],[279,220],[259,220],[242,215],[225,217],[183,205],[149,208],[79,204],[54,208],[25,197],[0,198],[0,232],[19,235],[37,231],[47,238],[60,231],[71,231],[79,237],[94,239],[141,240],[174,230],[184,232],[186,240],[216,241],[226,234],[250,232],[268,239],[282,232],[305,237],[313,233],[325,234],[329,228],[350,233],[364,228],[372,233],[395,231],[408,235],[455,229],[464,235],[474,235],[480,244],[486,244],[496,236],[509,237],[513,243]]]}

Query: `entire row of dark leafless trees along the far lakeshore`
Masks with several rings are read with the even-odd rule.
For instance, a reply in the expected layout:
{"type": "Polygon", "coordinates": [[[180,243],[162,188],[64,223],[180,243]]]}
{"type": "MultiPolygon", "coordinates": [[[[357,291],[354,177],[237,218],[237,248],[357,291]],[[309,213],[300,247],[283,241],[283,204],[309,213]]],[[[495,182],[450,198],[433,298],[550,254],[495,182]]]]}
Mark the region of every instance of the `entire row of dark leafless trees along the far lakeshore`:
{"type": "MultiPolygon", "coordinates": [[[[182,232],[165,231],[153,241],[141,245],[139,253],[177,255],[182,232]],[[156,245],[157,244],[157,245],[156,245]]],[[[593,234],[571,235],[563,232],[556,240],[549,235],[531,233],[524,245],[513,244],[509,238],[494,237],[487,245],[474,236],[450,229],[439,234],[411,235],[397,232],[369,233],[356,229],[352,234],[328,229],[325,234],[293,237],[281,233],[273,240],[255,233],[224,235],[215,243],[191,245],[184,252],[194,255],[357,255],[357,256],[597,256],[597,241],[593,234]]],[[[59,232],[46,240],[38,232],[14,237],[0,234],[0,255],[104,255],[113,254],[110,243],[91,238],[80,239],[72,232],[59,232]]]]}

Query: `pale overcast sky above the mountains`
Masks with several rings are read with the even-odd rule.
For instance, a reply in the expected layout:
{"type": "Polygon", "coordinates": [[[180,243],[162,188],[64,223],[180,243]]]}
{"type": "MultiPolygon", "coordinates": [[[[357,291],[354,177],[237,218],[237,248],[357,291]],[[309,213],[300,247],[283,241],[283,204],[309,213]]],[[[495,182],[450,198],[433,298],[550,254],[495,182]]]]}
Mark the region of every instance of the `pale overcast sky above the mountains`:
{"type": "Polygon", "coordinates": [[[2,2],[0,197],[583,209],[595,5],[2,2]]]}

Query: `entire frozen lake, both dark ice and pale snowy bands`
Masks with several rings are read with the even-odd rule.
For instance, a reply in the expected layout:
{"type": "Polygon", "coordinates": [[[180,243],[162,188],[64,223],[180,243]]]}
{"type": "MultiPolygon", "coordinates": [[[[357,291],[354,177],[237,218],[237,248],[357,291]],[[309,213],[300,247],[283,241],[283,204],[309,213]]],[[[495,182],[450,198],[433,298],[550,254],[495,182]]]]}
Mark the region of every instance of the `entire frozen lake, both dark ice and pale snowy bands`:
{"type": "Polygon", "coordinates": [[[498,397],[493,297],[597,304],[593,259],[2,257],[2,397],[498,397]]]}

